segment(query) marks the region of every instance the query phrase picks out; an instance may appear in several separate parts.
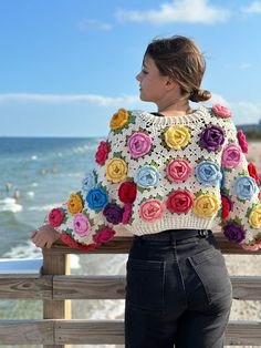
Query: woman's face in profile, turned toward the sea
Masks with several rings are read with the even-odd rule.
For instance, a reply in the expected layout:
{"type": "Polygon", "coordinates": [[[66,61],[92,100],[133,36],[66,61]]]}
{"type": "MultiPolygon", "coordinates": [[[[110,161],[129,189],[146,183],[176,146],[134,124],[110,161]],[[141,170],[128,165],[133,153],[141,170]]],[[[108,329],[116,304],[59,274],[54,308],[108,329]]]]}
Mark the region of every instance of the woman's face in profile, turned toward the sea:
{"type": "Polygon", "coordinates": [[[169,78],[161,75],[154,60],[145,55],[143,69],[136,80],[139,82],[140,100],[157,104],[166,93],[166,83],[169,78]]]}

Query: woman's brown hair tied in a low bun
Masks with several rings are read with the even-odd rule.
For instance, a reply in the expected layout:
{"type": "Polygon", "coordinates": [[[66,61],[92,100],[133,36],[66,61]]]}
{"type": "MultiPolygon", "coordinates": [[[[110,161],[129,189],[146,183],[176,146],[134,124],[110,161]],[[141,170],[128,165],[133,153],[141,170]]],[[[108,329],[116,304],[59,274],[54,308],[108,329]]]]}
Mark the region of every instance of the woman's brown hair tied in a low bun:
{"type": "Polygon", "coordinates": [[[179,83],[184,98],[197,103],[211,98],[209,91],[200,89],[206,61],[192,40],[180,35],[155,39],[148,44],[146,54],[163,75],[179,83]]]}

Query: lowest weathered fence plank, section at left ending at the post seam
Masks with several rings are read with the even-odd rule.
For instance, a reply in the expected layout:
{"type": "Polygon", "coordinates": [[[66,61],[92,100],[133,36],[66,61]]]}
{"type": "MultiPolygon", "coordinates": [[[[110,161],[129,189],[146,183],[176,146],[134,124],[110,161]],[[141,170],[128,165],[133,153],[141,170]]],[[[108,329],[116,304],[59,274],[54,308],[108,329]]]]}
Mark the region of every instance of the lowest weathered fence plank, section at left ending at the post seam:
{"type": "Polygon", "coordinates": [[[49,345],[54,342],[53,320],[0,320],[1,345],[49,345]]]}

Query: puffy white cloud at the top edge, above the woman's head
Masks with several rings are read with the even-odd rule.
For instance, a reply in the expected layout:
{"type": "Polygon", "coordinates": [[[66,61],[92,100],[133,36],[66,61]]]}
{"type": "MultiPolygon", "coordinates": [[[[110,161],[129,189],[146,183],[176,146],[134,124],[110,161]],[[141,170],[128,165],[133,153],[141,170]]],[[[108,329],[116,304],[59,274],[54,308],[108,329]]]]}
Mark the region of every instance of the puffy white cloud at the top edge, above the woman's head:
{"type": "Polygon", "coordinates": [[[148,11],[117,10],[116,18],[121,22],[145,22],[152,24],[202,23],[213,24],[228,20],[230,12],[208,3],[208,0],[174,0],[160,4],[159,9],[148,11]]]}

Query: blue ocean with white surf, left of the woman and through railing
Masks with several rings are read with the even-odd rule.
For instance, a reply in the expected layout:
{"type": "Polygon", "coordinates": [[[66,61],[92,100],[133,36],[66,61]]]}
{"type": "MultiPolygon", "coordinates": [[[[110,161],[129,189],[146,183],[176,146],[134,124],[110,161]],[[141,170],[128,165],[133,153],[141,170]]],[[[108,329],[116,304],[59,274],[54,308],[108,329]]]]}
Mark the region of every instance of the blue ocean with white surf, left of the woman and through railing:
{"type": "MultiPolygon", "coordinates": [[[[31,232],[42,224],[50,208],[81,187],[84,174],[95,166],[94,155],[102,140],[0,137],[0,258],[42,256],[41,249],[30,240],[31,232]]],[[[126,257],[72,255],[72,274],[125,274],[126,257]]],[[[72,301],[75,319],[118,319],[123,315],[124,300],[72,301]]],[[[41,317],[41,301],[0,300],[0,319],[41,317]]],[[[0,347],[9,348],[1,345],[1,338],[0,347]]]]}

